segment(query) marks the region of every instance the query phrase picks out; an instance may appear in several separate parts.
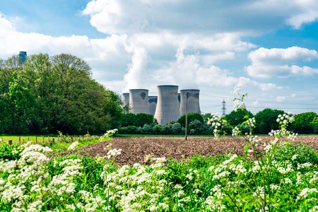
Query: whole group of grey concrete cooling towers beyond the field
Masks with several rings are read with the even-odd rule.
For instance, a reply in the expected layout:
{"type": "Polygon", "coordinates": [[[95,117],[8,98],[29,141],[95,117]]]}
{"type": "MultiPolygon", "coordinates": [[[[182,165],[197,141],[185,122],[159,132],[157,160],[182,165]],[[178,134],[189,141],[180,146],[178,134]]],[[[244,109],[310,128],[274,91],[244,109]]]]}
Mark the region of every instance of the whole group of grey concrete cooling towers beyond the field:
{"type": "Polygon", "coordinates": [[[129,93],[123,93],[125,106],[135,114],[153,115],[160,125],[177,121],[185,114],[186,98],[187,111],[201,113],[200,90],[184,89],[178,93],[177,85],[158,85],[157,89],[158,96],[148,96],[147,89],[130,89],[129,93]]]}

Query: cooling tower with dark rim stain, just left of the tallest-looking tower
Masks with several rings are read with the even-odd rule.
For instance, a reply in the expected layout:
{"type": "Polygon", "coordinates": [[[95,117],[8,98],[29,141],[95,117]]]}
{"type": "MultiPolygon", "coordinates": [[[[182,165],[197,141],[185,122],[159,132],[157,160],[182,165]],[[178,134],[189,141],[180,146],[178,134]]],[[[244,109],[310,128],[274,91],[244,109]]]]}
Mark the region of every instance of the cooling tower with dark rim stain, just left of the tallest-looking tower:
{"type": "Polygon", "coordinates": [[[129,107],[131,112],[149,114],[148,90],[131,89],[129,90],[129,107]]]}

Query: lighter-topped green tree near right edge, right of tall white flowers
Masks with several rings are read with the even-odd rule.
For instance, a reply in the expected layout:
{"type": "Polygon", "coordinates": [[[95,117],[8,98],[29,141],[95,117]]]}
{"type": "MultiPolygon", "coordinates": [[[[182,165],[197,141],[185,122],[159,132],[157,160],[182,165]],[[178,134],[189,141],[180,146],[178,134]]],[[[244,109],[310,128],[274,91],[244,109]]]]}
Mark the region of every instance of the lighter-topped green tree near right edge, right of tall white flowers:
{"type": "Polygon", "coordinates": [[[295,116],[295,120],[292,123],[293,131],[296,133],[313,133],[312,121],[318,115],[315,112],[299,113],[295,116]]]}

